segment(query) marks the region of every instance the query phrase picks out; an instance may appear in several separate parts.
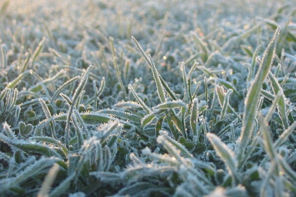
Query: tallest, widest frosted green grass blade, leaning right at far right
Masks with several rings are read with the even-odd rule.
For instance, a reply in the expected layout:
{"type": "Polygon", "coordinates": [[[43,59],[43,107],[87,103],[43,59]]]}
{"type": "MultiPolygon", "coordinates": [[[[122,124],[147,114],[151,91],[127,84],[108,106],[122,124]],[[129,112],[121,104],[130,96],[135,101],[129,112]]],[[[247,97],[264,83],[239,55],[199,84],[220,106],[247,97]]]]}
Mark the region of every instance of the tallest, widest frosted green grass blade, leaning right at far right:
{"type": "Polygon", "coordinates": [[[248,90],[248,94],[245,99],[245,110],[243,115],[243,126],[241,135],[238,140],[238,148],[237,148],[237,156],[238,161],[242,159],[242,155],[245,152],[247,145],[249,144],[249,140],[252,137],[256,108],[260,97],[260,91],[262,84],[268,74],[269,68],[273,62],[273,57],[275,53],[276,47],[276,38],[279,34],[280,28],[278,28],[267,48],[264,51],[264,55],[262,61],[259,66],[259,70],[257,72],[256,78],[252,81],[251,87],[248,90]]]}

